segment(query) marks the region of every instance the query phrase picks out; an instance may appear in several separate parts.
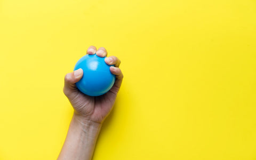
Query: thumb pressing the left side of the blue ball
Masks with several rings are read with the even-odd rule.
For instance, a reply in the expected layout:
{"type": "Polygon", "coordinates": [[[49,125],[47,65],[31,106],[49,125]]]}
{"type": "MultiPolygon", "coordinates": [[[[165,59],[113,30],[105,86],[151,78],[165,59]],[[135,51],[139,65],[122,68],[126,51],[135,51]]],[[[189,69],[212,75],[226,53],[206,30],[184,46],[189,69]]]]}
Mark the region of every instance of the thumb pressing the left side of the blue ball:
{"type": "Polygon", "coordinates": [[[69,97],[72,93],[78,91],[75,83],[80,81],[82,77],[83,77],[83,69],[81,68],[66,74],[63,92],[67,97],[69,97]]]}

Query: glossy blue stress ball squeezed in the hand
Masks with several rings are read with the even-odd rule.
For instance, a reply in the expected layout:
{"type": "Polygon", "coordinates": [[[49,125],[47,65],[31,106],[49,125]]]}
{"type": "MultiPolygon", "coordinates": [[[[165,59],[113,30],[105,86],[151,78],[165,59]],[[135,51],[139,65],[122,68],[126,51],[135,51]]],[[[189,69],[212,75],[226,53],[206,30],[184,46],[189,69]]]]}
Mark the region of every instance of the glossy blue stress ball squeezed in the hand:
{"type": "Polygon", "coordinates": [[[90,96],[98,96],[111,89],[116,76],[111,74],[105,58],[96,54],[86,54],[77,61],[74,70],[82,68],[84,72],[83,77],[76,83],[79,91],[90,96]]]}

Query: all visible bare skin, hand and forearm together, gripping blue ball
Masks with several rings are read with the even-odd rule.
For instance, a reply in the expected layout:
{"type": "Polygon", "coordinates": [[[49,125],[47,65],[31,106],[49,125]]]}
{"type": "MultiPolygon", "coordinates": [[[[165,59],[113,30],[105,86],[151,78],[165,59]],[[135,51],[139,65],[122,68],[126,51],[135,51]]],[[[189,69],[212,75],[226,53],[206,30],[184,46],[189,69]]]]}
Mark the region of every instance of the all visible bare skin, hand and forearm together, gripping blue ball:
{"type": "MultiPolygon", "coordinates": [[[[87,54],[97,54],[99,57],[106,57],[107,51],[104,47],[98,50],[95,46],[87,49],[87,54]]],[[[90,97],[80,92],[75,83],[83,76],[83,70],[78,69],[65,76],[63,92],[74,108],[73,118],[65,143],[61,149],[58,159],[91,159],[95,144],[104,119],[112,110],[116,95],[122,84],[123,74],[119,65],[121,61],[110,56],[105,59],[110,67],[110,72],[116,75],[113,87],[99,97],[90,97]]]]}

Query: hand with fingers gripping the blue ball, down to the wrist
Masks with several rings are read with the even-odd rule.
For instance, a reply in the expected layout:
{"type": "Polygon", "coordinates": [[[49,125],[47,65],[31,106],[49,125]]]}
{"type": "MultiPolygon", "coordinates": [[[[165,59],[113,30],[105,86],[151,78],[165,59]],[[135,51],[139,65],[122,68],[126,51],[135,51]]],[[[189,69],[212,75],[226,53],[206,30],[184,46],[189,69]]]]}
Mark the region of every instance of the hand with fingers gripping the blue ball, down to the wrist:
{"type": "MultiPolygon", "coordinates": [[[[99,57],[106,57],[107,51],[104,47],[100,47],[97,51],[95,46],[90,46],[87,50],[87,54],[97,54],[99,57]]],[[[107,93],[98,97],[91,97],[77,89],[75,83],[82,78],[82,69],[75,70],[65,76],[65,86],[63,88],[63,92],[74,108],[74,116],[81,120],[101,124],[113,108],[116,95],[122,84],[123,74],[118,68],[120,65],[120,60],[117,57],[110,56],[105,59],[105,62],[108,65],[115,66],[110,67],[110,72],[116,75],[116,81],[113,87],[107,93]]]]}

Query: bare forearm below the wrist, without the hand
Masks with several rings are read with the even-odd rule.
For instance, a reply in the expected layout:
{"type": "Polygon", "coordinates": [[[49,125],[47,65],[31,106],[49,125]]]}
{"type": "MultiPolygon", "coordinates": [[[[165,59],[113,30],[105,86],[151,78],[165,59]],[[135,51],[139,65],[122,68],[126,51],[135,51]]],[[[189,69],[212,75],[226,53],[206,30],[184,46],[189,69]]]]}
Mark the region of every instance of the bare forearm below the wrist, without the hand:
{"type": "Polygon", "coordinates": [[[100,128],[100,123],[81,119],[74,114],[58,159],[91,159],[100,128]]]}

